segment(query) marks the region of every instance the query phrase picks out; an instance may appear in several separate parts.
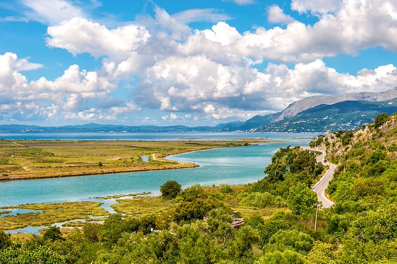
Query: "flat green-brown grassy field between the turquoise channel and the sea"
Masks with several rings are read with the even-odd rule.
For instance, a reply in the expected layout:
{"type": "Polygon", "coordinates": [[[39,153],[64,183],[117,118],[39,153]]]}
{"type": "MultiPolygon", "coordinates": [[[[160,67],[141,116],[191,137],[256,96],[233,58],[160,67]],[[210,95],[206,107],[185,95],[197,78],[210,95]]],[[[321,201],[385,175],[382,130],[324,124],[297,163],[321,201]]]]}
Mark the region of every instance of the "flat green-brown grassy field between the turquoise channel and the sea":
{"type": "Polygon", "coordinates": [[[195,167],[163,157],[268,140],[230,141],[0,141],[0,180],[195,167]],[[141,156],[148,155],[148,161],[141,156]]]}

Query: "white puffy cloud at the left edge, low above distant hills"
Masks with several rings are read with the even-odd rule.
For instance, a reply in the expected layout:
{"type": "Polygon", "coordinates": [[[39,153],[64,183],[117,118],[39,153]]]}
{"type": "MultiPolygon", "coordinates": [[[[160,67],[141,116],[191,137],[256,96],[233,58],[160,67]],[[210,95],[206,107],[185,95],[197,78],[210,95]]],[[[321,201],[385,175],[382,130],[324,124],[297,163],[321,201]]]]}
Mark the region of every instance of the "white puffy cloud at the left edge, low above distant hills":
{"type": "MultiPolygon", "coordinates": [[[[107,117],[93,110],[87,112],[85,104],[108,96],[116,85],[95,71],[80,70],[78,65],[69,66],[54,81],[41,77],[28,82],[20,73],[40,67],[28,58],[19,59],[15,53],[0,55],[0,111],[7,111],[8,117],[17,120],[61,118],[61,113],[65,118],[107,117]]],[[[133,109],[131,104],[124,107],[133,109]]]]}

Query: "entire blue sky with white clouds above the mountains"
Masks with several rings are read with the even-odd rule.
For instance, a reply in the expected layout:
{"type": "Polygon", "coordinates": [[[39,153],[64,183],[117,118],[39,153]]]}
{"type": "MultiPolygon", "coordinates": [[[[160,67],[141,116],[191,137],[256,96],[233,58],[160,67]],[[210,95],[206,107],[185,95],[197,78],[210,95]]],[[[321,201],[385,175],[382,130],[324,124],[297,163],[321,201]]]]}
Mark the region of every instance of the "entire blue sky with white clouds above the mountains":
{"type": "Polygon", "coordinates": [[[0,0],[0,124],[216,125],[397,85],[397,0],[0,0]]]}

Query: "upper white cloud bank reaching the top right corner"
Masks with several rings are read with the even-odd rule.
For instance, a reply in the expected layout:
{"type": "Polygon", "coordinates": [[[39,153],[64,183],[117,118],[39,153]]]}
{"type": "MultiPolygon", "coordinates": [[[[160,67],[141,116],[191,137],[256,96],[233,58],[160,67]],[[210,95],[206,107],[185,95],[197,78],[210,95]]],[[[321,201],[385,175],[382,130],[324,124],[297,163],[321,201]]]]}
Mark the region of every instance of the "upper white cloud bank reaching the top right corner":
{"type": "MultiPolygon", "coordinates": [[[[278,10],[279,7],[272,8],[278,10]]],[[[313,10],[319,9],[313,7],[313,10]]],[[[221,42],[214,34],[208,34],[208,30],[195,31],[179,48],[189,55],[204,53],[216,57],[222,54],[230,59],[252,57],[280,62],[310,62],[339,53],[354,55],[377,46],[396,51],[397,40],[393,37],[397,34],[396,10],[397,3],[389,1],[346,0],[335,13],[322,14],[314,25],[292,21],[285,29],[257,27],[240,33],[241,37],[231,39],[222,47],[214,45],[221,42]],[[215,43],[208,44],[208,40],[215,43]]],[[[223,35],[233,33],[232,27],[220,23],[223,22],[218,23],[223,35]]]]}

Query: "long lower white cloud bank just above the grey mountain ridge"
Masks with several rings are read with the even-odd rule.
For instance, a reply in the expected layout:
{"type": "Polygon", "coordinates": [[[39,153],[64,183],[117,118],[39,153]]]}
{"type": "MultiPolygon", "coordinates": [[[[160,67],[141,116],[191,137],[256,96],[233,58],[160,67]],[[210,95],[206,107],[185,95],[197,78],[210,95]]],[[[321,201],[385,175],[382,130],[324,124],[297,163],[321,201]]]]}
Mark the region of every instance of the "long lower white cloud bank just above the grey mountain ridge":
{"type": "Polygon", "coordinates": [[[135,96],[142,107],[244,118],[282,110],[313,95],[387,90],[397,81],[396,73],[388,65],[353,76],[338,73],[322,60],[297,63],[293,69],[270,63],[260,72],[202,55],[170,57],[147,70],[135,96]]]}

